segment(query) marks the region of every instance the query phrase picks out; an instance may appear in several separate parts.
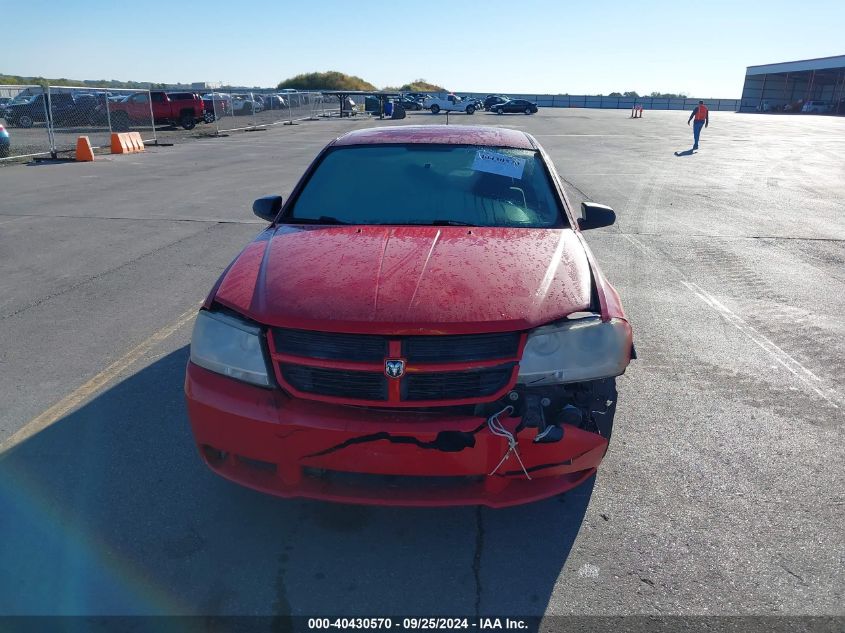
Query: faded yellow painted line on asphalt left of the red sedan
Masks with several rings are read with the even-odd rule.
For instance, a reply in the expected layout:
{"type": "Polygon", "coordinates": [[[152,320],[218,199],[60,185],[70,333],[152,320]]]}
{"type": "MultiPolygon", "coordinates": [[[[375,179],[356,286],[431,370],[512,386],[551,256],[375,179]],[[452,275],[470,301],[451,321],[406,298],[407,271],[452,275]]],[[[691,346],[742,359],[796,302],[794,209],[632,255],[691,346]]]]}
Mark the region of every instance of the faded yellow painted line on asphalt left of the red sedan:
{"type": "Polygon", "coordinates": [[[117,378],[117,376],[119,376],[122,372],[137,363],[156,345],[172,336],[177,330],[179,330],[179,328],[191,321],[196,316],[198,309],[199,306],[195,306],[182,313],[176,321],[154,332],[149,338],[138,343],[138,345],[130,349],[126,352],[126,354],[114,361],[111,365],[91,378],[91,380],[86,382],[84,385],[66,395],[40,415],[32,418],[11,437],[0,444],[0,454],[5,453],[13,446],[17,446],[21,442],[24,442],[33,435],[40,433],[44,429],[58,422],[69,411],[85,402],[88,398],[117,378]]]}

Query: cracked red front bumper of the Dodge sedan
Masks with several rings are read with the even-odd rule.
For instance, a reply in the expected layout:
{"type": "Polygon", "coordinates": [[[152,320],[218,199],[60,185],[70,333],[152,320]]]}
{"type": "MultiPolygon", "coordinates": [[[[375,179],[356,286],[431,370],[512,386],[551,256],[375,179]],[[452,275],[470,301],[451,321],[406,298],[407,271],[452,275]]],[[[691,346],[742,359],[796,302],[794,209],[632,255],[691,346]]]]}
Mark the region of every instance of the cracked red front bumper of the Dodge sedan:
{"type": "Polygon", "coordinates": [[[382,411],[294,399],[188,364],[188,413],[200,455],[219,475],[281,497],[358,504],[504,507],[588,479],[607,439],[561,423],[559,441],[500,416],[382,411]],[[502,461],[507,454],[506,459],[502,461]],[[500,464],[501,462],[501,464],[500,464]],[[524,469],[523,469],[524,466],[524,469]]]}

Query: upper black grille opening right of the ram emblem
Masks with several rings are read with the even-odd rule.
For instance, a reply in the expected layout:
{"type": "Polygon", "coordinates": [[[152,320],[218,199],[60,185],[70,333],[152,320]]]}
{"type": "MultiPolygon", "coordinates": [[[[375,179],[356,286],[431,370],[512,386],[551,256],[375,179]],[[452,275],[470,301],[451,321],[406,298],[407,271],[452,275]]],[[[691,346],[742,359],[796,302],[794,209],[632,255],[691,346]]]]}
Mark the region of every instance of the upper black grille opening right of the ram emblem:
{"type": "Polygon", "coordinates": [[[514,358],[519,351],[519,337],[519,332],[409,336],[402,341],[402,355],[411,363],[450,363],[514,358]]]}

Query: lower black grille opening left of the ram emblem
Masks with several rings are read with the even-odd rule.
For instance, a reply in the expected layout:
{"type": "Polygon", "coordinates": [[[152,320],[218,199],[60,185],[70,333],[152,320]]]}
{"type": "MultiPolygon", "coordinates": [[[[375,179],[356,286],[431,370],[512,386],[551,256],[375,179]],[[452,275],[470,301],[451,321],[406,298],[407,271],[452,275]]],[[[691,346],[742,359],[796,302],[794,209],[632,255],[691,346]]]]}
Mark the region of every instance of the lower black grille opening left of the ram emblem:
{"type": "Polygon", "coordinates": [[[387,400],[387,378],[381,373],[287,363],[283,363],[281,369],[288,384],[305,393],[356,400],[387,400]]]}

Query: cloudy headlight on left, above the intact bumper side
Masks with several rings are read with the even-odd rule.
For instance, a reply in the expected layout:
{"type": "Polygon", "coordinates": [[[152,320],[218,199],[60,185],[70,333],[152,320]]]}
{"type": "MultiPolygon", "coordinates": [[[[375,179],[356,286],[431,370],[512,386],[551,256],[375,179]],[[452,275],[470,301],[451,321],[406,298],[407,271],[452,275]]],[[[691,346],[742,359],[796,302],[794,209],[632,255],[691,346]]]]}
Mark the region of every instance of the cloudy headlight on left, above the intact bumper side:
{"type": "Polygon", "coordinates": [[[191,362],[224,376],[270,386],[261,330],[228,314],[202,310],[197,315],[191,362]]]}

